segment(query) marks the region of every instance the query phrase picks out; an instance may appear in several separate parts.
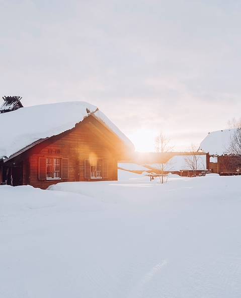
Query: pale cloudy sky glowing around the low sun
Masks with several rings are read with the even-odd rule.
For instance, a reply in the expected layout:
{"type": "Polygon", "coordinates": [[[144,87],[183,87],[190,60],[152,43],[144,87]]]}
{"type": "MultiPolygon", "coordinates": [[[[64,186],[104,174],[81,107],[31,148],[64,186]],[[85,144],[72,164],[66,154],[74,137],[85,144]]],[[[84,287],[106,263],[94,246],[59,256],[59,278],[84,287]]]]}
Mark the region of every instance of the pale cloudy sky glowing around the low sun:
{"type": "Polygon", "coordinates": [[[240,1],[0,0],[0,95],[88,101],[136,150],[160,131],[185,150],[241,116],[240,15],[240,1]]]}

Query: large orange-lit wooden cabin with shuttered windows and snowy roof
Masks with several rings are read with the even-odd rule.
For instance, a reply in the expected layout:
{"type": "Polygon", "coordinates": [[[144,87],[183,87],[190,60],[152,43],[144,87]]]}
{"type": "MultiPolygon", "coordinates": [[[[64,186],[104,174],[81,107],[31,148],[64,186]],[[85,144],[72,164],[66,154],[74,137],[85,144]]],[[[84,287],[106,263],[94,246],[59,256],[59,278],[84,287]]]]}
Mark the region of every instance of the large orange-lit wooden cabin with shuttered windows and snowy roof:
{"type": "Polygon", "coordinates": [[[12,125],[8,133],[0,133],[5,139],[0,145],[2,184],[46,189],[59,182],[117,180],[118,160],[134,150],[129,139],[86,102],[0,114],[0,125],[13,122],[18,127],[12,125]]]}

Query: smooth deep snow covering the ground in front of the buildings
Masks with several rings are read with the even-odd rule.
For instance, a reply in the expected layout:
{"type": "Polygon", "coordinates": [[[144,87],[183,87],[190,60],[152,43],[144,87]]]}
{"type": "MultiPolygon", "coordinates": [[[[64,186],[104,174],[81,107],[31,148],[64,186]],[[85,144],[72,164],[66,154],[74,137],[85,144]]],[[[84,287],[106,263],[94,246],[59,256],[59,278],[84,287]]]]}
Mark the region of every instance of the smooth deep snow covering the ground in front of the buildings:
{"type": "Polygon", "coordinates": [[[240,297],[241,177],[133,175],[0,186],[0,297],[240,297]]]}

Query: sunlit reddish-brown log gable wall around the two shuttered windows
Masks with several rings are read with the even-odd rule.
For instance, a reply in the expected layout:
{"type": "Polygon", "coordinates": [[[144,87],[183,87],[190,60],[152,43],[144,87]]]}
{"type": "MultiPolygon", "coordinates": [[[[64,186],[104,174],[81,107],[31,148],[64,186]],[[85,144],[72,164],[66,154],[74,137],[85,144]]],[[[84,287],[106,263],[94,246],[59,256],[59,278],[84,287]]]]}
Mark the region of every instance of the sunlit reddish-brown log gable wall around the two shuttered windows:
{"type": "Polygon", "coordinates": [[[37,145],[31,151],[28,159],[25,159],[24,184],[46,189],[48,186],[59,182],[93,181],[85,179],[85,159],[107,159],[108,178],[101,180],[117,180],[117,157],[114,149],[88,123],[76,127],[60,139],[42,147],[43,145],[37,145]],[[39,157],[68,158],[68,179],[39,180],[39,157]]]}

